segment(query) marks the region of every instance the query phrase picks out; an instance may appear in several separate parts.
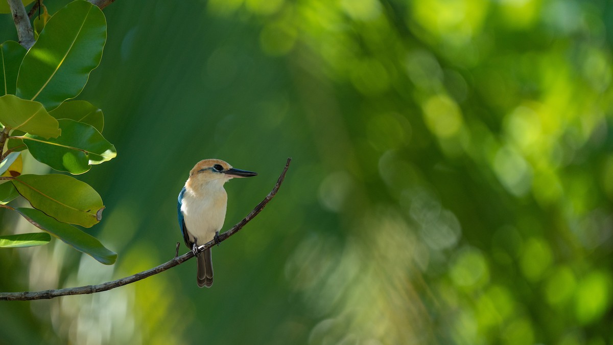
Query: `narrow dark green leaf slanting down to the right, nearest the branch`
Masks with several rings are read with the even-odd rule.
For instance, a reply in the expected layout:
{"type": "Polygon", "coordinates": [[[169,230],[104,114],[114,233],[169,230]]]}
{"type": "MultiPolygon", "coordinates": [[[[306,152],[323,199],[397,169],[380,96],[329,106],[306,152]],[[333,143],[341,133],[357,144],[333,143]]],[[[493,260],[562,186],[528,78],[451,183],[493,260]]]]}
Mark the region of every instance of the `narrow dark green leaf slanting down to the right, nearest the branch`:
{"type": "Polygon", "coordinates": [[[117,259],[117,254],[102,246],[100,241],[72,225],[58,222],[37,209],[18,208],[15,211],[32,220],[37,227],[61,239],[74,249],[91,255],[104,265],[113,265],[117,259]]]}

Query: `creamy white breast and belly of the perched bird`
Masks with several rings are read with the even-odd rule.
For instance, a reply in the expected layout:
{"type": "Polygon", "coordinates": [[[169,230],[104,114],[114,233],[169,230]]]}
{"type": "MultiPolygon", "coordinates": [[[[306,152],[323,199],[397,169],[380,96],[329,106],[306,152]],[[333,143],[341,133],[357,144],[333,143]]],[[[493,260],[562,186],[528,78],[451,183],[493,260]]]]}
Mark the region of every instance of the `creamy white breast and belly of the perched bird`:
{"type": "Polygon", "coordinates": [[[226,219],[227,194],[223,185],[210,185],[199,191],[186,189],[181,212],[189,239],[202,245],[211,241],[226,219]]]}

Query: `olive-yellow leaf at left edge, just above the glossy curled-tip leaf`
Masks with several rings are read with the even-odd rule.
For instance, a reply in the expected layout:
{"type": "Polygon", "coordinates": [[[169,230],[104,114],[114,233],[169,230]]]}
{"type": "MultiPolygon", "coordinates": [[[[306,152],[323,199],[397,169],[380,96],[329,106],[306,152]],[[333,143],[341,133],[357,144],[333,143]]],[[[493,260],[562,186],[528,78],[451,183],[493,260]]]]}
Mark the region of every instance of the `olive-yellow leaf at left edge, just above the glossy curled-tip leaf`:
{"type": "Polygon", "coordinates": [[[42,104],[14,95],[0,97],[0,122],[10,130],[21,130],[44,138],[59,136],[58,120],[42,104]]]}

